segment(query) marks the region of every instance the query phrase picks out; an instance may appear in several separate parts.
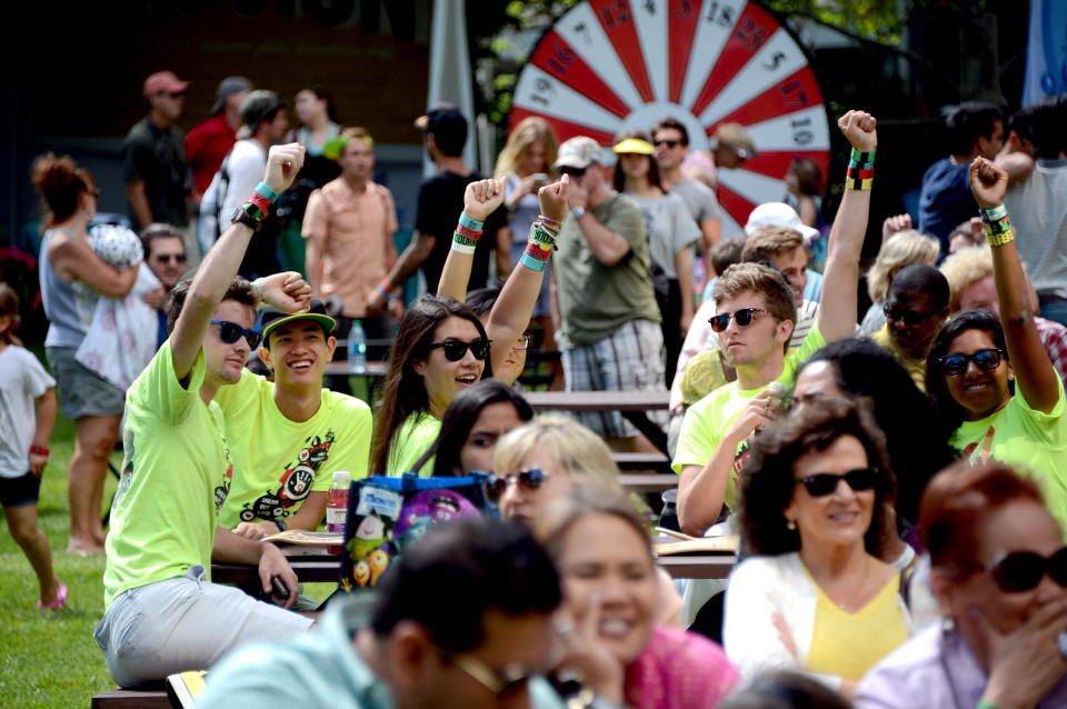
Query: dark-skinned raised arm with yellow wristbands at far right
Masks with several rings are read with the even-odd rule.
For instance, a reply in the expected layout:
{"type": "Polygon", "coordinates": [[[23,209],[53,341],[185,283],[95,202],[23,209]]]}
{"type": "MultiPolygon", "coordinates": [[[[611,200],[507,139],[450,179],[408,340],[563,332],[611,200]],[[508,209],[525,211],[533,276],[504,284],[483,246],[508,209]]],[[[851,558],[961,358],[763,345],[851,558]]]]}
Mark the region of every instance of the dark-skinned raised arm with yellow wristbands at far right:
{"type": "Polygon", "coordinates": [[[1015,232],[1004,209],[1008,173],[985,158],[970,163],[970,190],[981,208],[981,220],[993,249],[993,274],[1000,306],[1000,323],[1008,343],[1008,358],[1023,398],[1031,408],[1048,413],[1059,401],[1058,375],[1034,322],[1027,298],[1028,284],[1015,232]]]}

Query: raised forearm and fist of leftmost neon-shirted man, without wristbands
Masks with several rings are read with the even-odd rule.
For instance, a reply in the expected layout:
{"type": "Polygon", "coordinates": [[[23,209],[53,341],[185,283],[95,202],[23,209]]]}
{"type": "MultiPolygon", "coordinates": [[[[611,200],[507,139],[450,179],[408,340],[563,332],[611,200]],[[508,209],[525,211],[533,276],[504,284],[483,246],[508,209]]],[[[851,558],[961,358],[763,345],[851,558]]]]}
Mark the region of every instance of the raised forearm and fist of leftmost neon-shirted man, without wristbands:
{"type": "MultiPolygon", "coordinates": [[[[303,166],[303,146],[299,143],[275,146],[270,149],[263,183],[275,192],[275,199],[292,183],[297,172],[303,166]]],[[[174,375],[179,380],[185,380],[192,369],[211,314],[226,294],[233,277],[237,276],[251,237],[251,228],[241,222],[233,222],[197,270],[189,293],[186,296],[186,304],[170,338],[174,375]]]]}

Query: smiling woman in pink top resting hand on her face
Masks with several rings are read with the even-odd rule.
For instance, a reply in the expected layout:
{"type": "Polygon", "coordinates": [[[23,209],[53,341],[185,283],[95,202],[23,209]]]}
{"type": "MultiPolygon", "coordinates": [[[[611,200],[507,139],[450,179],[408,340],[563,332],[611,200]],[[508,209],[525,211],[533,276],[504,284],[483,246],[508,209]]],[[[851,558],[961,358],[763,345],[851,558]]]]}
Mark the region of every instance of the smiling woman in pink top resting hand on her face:
{"type": "Polygon", "coordinates": [[[564,588],[565,668],[609,701],[640,709],[707,709],[738,680],[715,642],[657,627],[651,547],[626,498],[561,500],[537,527],[564,588]]]}

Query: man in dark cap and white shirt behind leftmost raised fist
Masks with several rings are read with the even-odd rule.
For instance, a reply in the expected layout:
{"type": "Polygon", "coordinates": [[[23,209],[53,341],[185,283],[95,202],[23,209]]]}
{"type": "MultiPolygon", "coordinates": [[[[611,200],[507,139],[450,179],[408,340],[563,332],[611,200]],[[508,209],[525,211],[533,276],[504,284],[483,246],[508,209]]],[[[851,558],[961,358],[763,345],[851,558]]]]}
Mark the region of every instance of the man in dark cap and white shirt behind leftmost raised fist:
{"type": "MultiPolygon", "coordinates": [[[[219,171],[200,204],[201,249],[215,243],[218,234],[233,219],[267,166],[267,150],[286,134],[286,104],[273,91],[252,91],[241,102],[241,128],[233,149],[222,160],[219,171]],[[205,219],[208,216],[208,219],[205,219]]],[[[277,250],[278,223],[270,217],[256,233],[241,262],[240,273],[255,279],[280,270],[277,250]]]]}

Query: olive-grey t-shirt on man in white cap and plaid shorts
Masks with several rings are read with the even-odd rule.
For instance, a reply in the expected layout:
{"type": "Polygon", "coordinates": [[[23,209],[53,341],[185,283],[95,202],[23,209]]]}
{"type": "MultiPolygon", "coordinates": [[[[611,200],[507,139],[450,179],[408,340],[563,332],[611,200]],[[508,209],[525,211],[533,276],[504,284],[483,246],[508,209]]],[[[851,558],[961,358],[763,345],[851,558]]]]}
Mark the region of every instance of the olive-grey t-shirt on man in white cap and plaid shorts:
{"type": "Polygon", "coordinates": [[[630,251],[614,266],[601,263],[574,213],[567,214],[552,257],[564,317],[560,344],[567,349],[599,342],[630,320],[660,321],[641,210],[634,200],[612,193],[589,211],[626,239],[630,251]]]}

